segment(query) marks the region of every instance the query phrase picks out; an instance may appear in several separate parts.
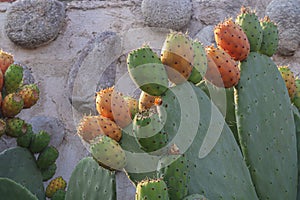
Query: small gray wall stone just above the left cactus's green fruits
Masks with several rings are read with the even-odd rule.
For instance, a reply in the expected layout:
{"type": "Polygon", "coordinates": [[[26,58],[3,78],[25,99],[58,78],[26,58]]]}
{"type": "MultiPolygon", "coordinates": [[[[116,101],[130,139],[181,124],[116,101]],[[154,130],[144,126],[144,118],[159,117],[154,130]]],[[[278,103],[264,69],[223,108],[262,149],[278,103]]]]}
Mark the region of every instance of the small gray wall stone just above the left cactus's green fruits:
{"type": "Polygon", "coordinates": [[[50,145],[59,147],[65,137],[65,125],[55,117],[35,116],[28,121],[33,132],[46,131],[51,136],[50,145]]]}

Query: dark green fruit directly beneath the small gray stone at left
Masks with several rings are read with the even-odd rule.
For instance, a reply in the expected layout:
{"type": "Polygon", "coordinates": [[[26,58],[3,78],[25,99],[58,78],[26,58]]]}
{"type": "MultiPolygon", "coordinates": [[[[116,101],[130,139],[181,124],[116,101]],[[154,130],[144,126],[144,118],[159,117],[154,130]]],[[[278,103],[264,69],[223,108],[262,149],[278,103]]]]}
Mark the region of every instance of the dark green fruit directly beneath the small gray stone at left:
{"type": "Polygon", "coordinates": [[[32,135],[29,150],[32,153],[40,153],[48,146],[49,142],[50,135],[46,131],[40,131],[32,135]]]}

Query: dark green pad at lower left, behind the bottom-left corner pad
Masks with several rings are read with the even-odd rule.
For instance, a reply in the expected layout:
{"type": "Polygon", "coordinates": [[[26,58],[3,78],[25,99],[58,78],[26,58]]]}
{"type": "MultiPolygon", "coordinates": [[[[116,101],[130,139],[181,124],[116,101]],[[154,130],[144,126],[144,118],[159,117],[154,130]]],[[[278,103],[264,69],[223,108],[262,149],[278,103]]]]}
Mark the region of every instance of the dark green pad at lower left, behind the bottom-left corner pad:
{"type": "Polygon", "coordinates": [[[14,147],[0,154],[0,177],[21,184],[39,200],[46,198],[41,172],[36,166],[35,158],[25,148],[14,147]]]}

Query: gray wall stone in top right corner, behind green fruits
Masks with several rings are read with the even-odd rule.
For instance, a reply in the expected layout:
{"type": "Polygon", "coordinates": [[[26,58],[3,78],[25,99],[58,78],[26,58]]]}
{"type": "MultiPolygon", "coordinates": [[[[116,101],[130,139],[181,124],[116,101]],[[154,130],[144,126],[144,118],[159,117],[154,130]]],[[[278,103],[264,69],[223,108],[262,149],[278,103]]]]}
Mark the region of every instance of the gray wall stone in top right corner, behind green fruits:
{"type": "Polygon", "coordinates": [[[279,47],[277,53],[292,56],[300,43],[300,1],[273,0],[266,15],[278,25],[279,47]]]}

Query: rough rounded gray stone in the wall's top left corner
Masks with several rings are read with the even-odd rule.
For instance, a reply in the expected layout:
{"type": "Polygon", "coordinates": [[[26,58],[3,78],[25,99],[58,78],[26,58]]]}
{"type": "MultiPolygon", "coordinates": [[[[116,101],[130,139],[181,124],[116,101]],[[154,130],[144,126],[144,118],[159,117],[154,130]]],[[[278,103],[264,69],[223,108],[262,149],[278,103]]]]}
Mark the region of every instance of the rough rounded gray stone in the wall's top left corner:
{"type": "Polygon", "coordinates": [[[65,6],[57,0],[22,0],[7,12],[8,38],[24,48],[36,48],[54,40],[65,19],[65,6]]]}

